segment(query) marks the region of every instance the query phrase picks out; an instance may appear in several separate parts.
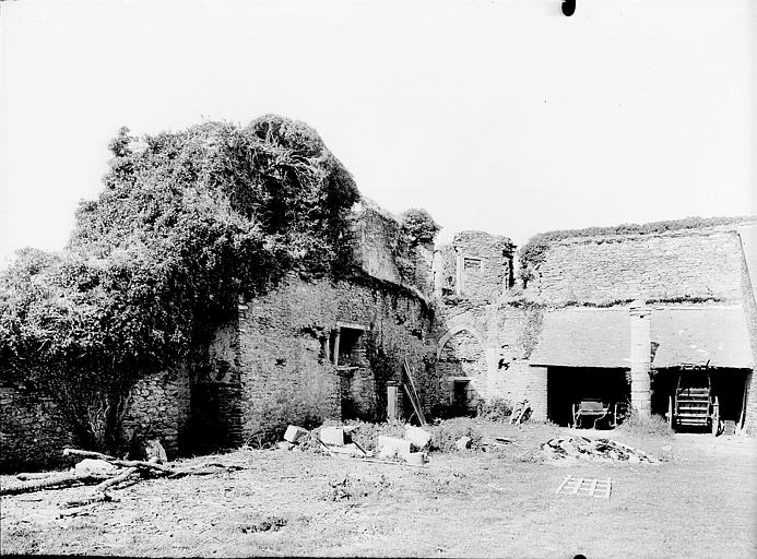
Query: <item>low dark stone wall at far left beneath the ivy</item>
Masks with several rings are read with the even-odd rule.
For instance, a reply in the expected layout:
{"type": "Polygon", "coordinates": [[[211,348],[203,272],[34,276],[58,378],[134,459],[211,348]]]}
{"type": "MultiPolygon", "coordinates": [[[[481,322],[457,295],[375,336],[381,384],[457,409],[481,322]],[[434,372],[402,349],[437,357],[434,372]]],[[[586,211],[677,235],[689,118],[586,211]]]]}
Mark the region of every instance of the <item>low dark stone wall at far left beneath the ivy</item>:
{"type": "Polygon", "coordinates": [[[52,399],[0,386],[0,472],[23,472],[68,465],[62,449],[75,444],[52,399]]]}

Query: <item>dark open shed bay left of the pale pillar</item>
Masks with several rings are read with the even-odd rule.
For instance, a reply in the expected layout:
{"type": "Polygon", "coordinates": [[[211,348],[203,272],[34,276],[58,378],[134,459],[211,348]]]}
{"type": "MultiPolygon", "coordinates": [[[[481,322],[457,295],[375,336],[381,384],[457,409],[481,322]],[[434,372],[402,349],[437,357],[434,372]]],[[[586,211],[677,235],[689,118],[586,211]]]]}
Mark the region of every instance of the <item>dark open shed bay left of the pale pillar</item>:
{"type": "Polygon", "coordinates": [[[618,405],[630,399],[625,369],[594,367],[547,368],[547,418],[560,426],[572,424],[572,406],[583,400],[618,405]]]}

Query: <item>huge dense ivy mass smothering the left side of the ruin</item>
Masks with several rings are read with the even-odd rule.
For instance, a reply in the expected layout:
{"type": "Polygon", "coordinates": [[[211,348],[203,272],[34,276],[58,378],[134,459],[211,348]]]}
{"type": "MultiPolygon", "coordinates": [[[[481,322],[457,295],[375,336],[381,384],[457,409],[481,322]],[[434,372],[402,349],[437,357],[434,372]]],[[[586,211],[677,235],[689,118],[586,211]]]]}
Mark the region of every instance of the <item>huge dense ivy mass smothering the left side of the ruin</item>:
{"type": "Polygon", "coordinates": [[[277,116],[138,140],[121,129],[67,249],[0,275],[0,364],[58,397],[82,442],[108,447],[129,386],[202,347],[240,295],[351,258],[348,171],[277,116]]]}

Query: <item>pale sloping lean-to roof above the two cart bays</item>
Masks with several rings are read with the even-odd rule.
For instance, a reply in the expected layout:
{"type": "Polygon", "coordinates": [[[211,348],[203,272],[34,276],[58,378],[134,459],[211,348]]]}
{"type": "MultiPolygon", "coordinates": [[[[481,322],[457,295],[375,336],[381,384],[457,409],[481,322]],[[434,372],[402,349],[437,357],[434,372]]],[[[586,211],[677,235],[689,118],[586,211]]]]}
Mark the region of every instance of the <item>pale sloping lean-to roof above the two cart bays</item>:
{"type": "MultiPolygon", "coordinates": [[[[653,366],[705,364],[753,368],[741,307],[653,308],[653,366]]],[[[563,309],[547,312],[533,365],[630,368],[630,318],[627,308],[563,309]]]]}

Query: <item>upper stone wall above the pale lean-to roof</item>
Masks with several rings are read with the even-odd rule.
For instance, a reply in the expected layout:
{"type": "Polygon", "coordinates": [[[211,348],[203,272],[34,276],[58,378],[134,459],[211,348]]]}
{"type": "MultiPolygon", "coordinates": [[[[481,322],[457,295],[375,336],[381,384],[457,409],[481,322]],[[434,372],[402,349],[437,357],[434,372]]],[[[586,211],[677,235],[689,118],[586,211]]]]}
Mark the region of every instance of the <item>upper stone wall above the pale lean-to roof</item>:
{"type": "Polygon", "coordinates": [[[741,297],[741,249],[721,228],[553,245],[529,292],[548,304],[741,297]]]}

